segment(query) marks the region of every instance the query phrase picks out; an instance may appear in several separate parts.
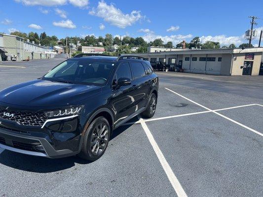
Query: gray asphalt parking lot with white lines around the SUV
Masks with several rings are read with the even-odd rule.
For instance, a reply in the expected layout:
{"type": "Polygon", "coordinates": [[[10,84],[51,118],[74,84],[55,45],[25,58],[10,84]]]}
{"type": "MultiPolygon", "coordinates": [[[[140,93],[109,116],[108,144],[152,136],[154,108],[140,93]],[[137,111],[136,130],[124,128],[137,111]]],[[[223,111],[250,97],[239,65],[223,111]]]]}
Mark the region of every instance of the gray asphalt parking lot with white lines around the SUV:
{"type": "MultiPolygon", "coordinates": [[[[0,90],[62,61],[0,62],[0,90]]],[[[114,131],[98,161],[0,149],[0,196],[262,197],[263,76],[157,74],[153,118],[114,131]]]]}

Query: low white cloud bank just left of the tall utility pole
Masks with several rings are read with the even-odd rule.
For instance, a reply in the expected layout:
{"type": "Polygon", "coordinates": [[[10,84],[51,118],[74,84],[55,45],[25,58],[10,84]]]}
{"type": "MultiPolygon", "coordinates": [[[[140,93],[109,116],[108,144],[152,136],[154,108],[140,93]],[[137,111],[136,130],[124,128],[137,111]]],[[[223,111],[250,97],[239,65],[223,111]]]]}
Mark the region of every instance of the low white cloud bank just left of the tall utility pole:
{"type": "Polygon", "coordinates": [[[229,46],[230,44],[240,45],[245,42],[242,36],[229,36],[226,35],[215,35],[215,36],[202,36],[200,41],[205,43],[206,41],[220,42],[220,46],[229,46]]]}

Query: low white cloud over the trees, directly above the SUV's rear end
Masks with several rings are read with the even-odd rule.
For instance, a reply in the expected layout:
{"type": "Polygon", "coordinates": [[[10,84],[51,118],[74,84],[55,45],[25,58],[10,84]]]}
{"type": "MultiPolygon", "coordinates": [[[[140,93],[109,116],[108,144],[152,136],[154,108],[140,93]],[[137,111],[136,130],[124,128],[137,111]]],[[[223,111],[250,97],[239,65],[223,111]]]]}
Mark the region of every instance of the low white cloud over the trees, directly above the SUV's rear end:
{"type": "Polygon", "coordinates": [[[164,43],[171,41],[171,42],[173,42],[174,45],[182,42],[183,40],[190,39],[192,37],[193,37],[192,34],[187,34],[187,35],[178,34],[178,35],[169,35],[169,36],[165,35],[165,36],[163,36],[163,35],[156,35],[154,33],[147,33],[143,36],[144,40],[147,42],[161,38],[164,41],[164,43]]]}

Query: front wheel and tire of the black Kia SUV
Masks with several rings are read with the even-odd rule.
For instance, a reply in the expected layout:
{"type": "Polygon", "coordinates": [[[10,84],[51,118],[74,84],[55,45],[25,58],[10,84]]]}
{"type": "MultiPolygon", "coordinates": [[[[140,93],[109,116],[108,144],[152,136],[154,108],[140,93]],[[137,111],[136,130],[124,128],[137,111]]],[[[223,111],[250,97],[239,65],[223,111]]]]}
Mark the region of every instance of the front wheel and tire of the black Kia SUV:
{"type": "Polygon", "coordinates": [[[110,133],[111,127],[106,118],[100,116],[93,120],[84,134],[82,150],[78,156],[88,161],[99,159],[107,149],[110,133]]]}

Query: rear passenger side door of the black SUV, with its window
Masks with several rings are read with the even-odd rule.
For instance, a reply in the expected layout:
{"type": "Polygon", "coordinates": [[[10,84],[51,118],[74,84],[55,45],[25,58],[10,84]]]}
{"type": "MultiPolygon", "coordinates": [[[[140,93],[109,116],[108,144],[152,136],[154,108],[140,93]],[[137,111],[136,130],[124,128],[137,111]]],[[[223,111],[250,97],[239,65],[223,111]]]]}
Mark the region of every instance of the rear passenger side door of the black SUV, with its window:
{"type": "Polygon", "coordinates": [[[150,94],[149,76],[146,75],[146,71],[141,62],[130,62],[133,81],[132,86],[136,90],[134,96],[137,109],[140,109],[147,105],[147,98],[150,94]]]}

